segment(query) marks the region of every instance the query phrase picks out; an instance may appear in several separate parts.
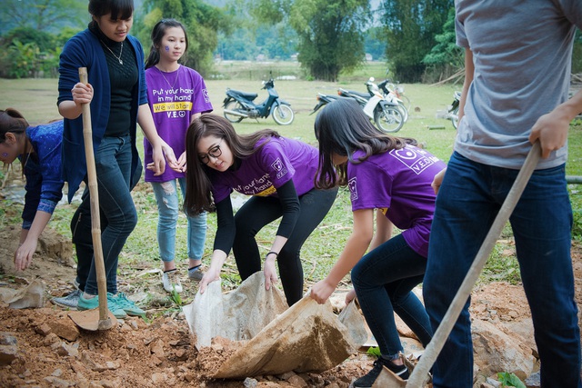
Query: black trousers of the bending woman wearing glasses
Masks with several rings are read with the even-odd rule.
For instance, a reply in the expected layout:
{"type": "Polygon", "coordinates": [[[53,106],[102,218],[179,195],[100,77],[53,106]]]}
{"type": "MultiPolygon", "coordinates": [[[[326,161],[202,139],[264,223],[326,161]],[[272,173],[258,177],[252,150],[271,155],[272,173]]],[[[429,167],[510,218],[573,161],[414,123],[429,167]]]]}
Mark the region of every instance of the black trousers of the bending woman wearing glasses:
{"type": "MultiPolygon", "coordinates": [[[[293,232],[277,256],[279,276],[289,305],[303,297],[303,266],[300,251],[336,200],[337,188],[311,190],[299,197],[301,211],[293,232]]],[[[236,266],[242,280],[261,270],[256,234],[282,216],[278,198],[253,196],[235,214],[236,236],[233,244],[236,266]]]]}

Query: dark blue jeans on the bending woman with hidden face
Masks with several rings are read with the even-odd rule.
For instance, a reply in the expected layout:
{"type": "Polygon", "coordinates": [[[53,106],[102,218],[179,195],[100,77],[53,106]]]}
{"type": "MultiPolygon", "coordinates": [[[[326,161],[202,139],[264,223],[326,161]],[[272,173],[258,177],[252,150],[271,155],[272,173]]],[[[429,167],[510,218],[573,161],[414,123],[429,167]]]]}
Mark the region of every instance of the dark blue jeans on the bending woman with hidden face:
{"type": "Polygon", "coordinates": [[[410,248],[402,234],[366,254],[352,269],[357,300],[384,356],[403,351],[394,313],[424,346],[432,337],[425,306],[411,291],[422,283],[425,270],[426,257],[410,248]]]}

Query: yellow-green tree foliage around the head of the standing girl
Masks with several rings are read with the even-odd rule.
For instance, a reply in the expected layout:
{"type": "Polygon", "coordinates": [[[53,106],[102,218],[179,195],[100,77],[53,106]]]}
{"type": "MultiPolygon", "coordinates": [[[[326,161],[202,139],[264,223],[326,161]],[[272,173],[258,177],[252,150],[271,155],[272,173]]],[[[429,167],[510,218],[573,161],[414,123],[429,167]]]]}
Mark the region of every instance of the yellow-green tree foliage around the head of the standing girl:
{"type": "Polygon", "coordinates": [[[188,51],[184,65],[206,75],[212,66],[212,53],[216,49],[217,32],[226,27],[226,15],[218,8],[200,0],[146,0],[143,5],[145,15],[137,18],[137,37],[146,47],[151,45],[151,31],[162,18],[175,18],[186,27],[188,51]]]}

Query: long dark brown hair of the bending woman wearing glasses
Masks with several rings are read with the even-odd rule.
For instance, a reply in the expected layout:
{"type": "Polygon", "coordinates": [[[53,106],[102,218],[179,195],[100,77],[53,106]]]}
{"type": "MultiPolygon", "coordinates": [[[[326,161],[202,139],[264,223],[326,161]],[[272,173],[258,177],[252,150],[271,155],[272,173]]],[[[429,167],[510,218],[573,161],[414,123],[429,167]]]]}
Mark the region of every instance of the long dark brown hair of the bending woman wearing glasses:
{"type": "Polygon", "coordinates": [[[210,183],[211,174],[220,174],[198,158],[198,142],[207,136],[222,139],[232,152],[235,161],[241,161],[255,154],[267,142],[256,147],[265,137],[280,137],[272,129],[264,129],[254,134],[236,134],[235,128],[225,117],[216,114],[202,114],[188,127],[186,132],[186,196],[184,210],[188,215],[214,212],[210,183]]]}

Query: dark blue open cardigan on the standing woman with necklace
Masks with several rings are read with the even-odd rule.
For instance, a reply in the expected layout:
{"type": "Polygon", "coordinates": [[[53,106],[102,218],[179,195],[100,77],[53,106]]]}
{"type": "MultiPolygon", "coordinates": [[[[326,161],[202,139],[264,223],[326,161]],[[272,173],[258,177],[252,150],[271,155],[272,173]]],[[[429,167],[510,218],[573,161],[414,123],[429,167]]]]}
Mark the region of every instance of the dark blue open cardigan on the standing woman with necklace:
{"type": "MultiPolygon", "coordinates": [[[[147,104],[147,85],[142,45],[131,35],[127,35],[125,42],[129,42],[134,48],[138,69],[137,73],[139,75],[138,82],[133,91],[135,98],[132,101],[132,124],[129,131],[132,145],[131,181],[133,182],[135,180],[133,175],[136,173],[141,174],[141,162],[139,160],[139,154],[137,154],[137,148],[135,147],[135,136],[137,109],[139,105],[147,104]]],[[[88,81],[94,90],[93,100],[91,101],[91,126],[93,131],[93,148],[96,152],[105,134],[105,128],[109,119],[111,85],[103,47],[97,36],[88,29],[69,39],[63,48],[58,69],[59,95],[57,104],[60,104],[62,101],[73,100],[71,89],[79,82],[79,67],[87,68],[88,81]]],[[[70,203],[79,188],[79,184],[85,179],[87,173],[82,115],[75,120],[65,119],[62,159],[62,177],[64,181],[68,182],[68,201],[70,203]]]]}

